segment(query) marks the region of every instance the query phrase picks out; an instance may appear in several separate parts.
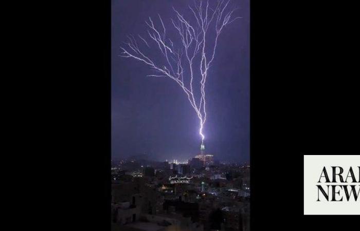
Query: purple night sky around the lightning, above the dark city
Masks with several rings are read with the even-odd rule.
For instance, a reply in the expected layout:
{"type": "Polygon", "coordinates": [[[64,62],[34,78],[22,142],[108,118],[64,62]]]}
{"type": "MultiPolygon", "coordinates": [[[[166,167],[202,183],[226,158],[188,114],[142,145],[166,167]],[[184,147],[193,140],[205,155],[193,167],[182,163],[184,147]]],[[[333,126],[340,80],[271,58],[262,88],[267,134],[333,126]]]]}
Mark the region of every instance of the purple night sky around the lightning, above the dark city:
{"type": "MultiPolygon", "coordinates": [[[[199,120],[184,91],[169,78],[147,77],[153,72],[145,64],[119,56],[127,35],[145,37],[145,21],[151,16],[157,24],[158,13],[167,36],[178,37],[170,29],[172,7],[187,16],[193,3],[112,0],[112,159],[147,153],[154,160],[186,160],[199,153],[199,120]]],[[[205,146],[215,159],[248,161],[249,0],[231,0],[230,8],[239,8],[234,16],[242,18],[223,29],[208,71],[205,146]]]]}

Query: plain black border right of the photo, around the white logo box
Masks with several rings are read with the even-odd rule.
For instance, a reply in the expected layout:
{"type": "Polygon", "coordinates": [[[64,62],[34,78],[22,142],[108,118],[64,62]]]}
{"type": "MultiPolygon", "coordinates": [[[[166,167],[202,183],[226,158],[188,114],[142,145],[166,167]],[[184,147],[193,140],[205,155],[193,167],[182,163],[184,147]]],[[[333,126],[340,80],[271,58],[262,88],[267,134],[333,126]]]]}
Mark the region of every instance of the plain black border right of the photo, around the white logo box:
{"type": "Polygon", "coordinates": [[[251,1],[251,230],[357,227],[357,215],[303,215],[303,154],[360,153],[353,7],[251,1]]]}

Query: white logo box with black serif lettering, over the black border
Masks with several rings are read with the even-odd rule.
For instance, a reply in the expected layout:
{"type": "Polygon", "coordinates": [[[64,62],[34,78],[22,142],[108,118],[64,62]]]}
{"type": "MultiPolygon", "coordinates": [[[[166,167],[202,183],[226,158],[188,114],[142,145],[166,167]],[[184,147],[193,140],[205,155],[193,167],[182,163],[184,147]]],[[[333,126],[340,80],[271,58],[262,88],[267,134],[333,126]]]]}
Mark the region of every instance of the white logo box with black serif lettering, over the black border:
{"type": "Polygon", "coordinates": [[[357,194],[360,190],[358,166],[360,166],[360,155],[304,155],[304,215],[360,215],[360,195],[356,201],[353,195],[354,192],[357,194]],[[331,182],[326,182],[325,174],[322,171],[323,167],[326,167],[331,182]],[[332,182],[332,167],[336,167],[335,173],[337,174],[340,171],[339,167],[343,168],[344,172],[341,176],[345,181],[349,175],[347,182],[339,182],[338,175],[335,176],[336,182],[332,182]],[[356,182],[353,182],[349,173],[350,167],[353,170],[356,182]],[[320,176],[322,176],[321,179],[320,176]],[[320,183],[318,183],[319,180],[320,183]],[[325,190],[326,195],[329,196],[329,201],[317,185],[325,190]],[[330,186],[328,187],[328,185],[330,186]],[[351,191],[351,185],[355,185],[353,186],[355,191],[351,191]],[[334,187],[336,193],[333,199],[334,187]],[[345,187],[350,194],[349,201],[346,197],[345,187]],[[339,201],[341,198],[343,201],[339,201]]]}

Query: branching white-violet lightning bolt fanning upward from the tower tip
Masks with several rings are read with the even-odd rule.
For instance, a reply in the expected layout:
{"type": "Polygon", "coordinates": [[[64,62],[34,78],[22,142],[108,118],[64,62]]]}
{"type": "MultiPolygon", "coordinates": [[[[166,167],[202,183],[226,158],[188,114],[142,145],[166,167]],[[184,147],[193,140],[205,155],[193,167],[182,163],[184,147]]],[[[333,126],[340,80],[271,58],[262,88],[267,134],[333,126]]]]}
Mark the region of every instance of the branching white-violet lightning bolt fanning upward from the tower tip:
{"type": "Polygon", "coordinates": [[[138,35],[141,44],[145,49],[154,51],[159,50],[163,55],[164,63],[159,64],[154,62],[153,59],[145,51],[141,50],[138,46],[134,36],[128,36],[129,41],[125,43],[127,48],[121,47],[122,57],[132,57],[137,61],[141,61],[155,72],[150,74],[150,77],[167,77],[174,80],[186,93],[190,105],[195,110],[199,118],[200,128],[199,134],[204,143],[203,128],[206,122],[206,100],[205,100],[205,83],[208,75],[208,70],[215,57],[215,50],[218,46],[218,37],[223,28],[237,20],[240,17],[233,17],[234,10],[227,11],[229,1],[220,0],[212,9],[209,7],[209,2],[203,4],[195,4],[194,8],[189,6],[194,18],[193,22],[186,20],[184,16],[173,8],[176,19],[171,19],[171,23],[179,35],[179,45],[167,38],[166,27],[163,19],[158,15],[159,28],[155,25],[151,17],[146,21],[148,26],[147,35],[148,40],[138,35]],[[209,30],[212,26],[212,31],[209,30]],[[208,45],[208,37],[213,36],[214,42],[208,45]],[[152,42],[152,43],[150,43],[152,42]],[[209,51],[210,52],[206,52],[209,51]],[[199,57],[196,59],[195,57],[199,57]],[[187,69],[186,69],[187,68],[187,69]],[[189,75],[188,78],[184,78],[189,75]],[[194,75],[200,73],[200,99],[196,99],[194,95],[194,75]]]}

